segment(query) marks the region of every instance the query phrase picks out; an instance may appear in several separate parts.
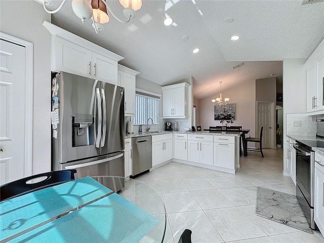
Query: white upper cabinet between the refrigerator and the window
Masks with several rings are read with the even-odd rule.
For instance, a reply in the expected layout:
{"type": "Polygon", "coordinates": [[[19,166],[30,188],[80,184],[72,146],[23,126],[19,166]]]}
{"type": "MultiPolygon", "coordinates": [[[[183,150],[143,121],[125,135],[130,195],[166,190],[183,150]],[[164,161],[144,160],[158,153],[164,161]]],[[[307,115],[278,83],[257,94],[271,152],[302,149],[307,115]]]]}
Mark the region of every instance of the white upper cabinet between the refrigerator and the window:
{"type": "Polygon", "coordinates": [[[125,116],[135,116],[136,75],[139,72],[118,64],[118,85],[125,88],[125,116]]]}

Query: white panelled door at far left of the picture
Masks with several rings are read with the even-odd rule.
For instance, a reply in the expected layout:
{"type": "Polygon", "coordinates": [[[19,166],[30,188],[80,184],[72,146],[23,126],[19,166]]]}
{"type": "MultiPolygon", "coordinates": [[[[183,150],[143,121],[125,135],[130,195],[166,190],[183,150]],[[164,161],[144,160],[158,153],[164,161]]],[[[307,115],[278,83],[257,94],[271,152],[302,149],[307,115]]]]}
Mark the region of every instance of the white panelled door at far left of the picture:
{"type": "Polygon", "coordinates": [[[25,176],[26,48],[0,43],[0,184],[25,176]]]}

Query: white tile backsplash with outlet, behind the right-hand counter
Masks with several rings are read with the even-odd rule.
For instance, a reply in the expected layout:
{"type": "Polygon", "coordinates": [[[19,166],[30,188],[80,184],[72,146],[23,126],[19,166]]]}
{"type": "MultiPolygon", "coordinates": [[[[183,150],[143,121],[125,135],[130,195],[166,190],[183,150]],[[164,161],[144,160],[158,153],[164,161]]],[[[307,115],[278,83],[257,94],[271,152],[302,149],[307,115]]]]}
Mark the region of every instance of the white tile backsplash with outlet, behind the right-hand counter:
{"type": "Polygon", "coordinates": [[[316,121],[307,113],[287,114],[286,129],[287,135],[316,135],[316,121]]]}

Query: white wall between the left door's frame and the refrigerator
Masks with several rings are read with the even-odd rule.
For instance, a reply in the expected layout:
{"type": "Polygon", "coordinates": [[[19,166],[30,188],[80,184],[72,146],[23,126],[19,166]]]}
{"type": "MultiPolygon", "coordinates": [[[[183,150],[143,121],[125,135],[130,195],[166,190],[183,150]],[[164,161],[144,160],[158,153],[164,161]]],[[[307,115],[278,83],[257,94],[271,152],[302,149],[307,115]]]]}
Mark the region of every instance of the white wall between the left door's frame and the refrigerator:
{"type": "MultiPolygon", "coordinates": [[[[51,170],[50,14],[34,1],[0,1],[0,31],[33,43],[32,174],[51,170]]],[[[19,149],[19,148],[17,148],[19,149]]]]}

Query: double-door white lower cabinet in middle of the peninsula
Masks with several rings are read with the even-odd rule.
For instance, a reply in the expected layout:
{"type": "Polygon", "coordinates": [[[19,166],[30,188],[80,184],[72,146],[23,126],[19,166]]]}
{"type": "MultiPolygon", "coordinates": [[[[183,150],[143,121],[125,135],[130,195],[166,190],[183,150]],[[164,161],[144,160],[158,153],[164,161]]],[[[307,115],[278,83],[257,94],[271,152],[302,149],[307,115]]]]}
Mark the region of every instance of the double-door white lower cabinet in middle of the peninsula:
{"type": "Polygon", "coordinates": [[[188,161],[213,165],[213,136],[188,136],[188,161]]]}

